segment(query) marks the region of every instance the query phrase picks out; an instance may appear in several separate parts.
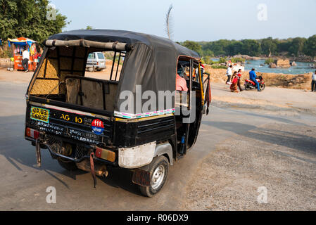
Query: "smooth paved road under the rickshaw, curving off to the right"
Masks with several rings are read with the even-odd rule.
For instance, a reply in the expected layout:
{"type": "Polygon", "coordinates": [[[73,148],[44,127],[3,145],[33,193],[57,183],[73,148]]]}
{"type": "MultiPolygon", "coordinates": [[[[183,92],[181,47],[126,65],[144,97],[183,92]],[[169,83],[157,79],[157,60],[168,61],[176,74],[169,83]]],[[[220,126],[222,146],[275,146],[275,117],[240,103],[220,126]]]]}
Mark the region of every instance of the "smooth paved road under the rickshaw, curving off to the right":
{"type": "Polygon", "coordinates": [[[310,115],[278,117],[215,104],[203,119],[194,149],[170,168],[168,181],[155,198],[144,198],[125,169],[111,170],[94,189],[89,173],[66,171],[45,150],[42,168],[34,166],[34,147],[24,140],[26,88],[26,84],[0,82],[0,210],[182,210],[191,177],[218,143],[271,122],[315,121],[310,115]],[[49,186],[56,188],[56,204],[46,203],[49,186]]]}

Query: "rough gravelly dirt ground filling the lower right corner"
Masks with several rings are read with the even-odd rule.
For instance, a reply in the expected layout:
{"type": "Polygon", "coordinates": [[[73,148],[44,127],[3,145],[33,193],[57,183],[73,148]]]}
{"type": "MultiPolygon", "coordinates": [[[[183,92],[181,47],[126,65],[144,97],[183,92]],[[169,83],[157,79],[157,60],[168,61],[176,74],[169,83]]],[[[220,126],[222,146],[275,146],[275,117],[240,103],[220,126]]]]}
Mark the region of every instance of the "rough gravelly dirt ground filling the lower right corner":
{"type": "MultiPolygon", "coordinates": [[[[228,127],[229,128],[229,127],[228,127]]],[[[218,144],[187,187],[186,210],[316,210],[316,127],[265,124],[218,144]],[[258,203],[258,188],[267,203],[258,203]]]]}

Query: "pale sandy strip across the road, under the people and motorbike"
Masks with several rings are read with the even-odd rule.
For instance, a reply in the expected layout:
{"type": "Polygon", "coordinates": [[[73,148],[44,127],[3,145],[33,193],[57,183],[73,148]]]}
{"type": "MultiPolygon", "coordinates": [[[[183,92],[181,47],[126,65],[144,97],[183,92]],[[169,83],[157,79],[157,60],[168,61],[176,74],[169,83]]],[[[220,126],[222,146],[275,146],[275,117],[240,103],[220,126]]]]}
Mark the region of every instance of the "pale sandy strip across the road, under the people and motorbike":
{"type": "MultiPolygon", "coordinates": [[[[241,86],[244,89],[244,86],[241,86]]],[[[267,86],[256,90],[232,93],[227,84],[212,84],[213,101],[217,106],[245,108],[277,115],[316,113],[316,93],[301,89],[283,89],[267,86]]]]}

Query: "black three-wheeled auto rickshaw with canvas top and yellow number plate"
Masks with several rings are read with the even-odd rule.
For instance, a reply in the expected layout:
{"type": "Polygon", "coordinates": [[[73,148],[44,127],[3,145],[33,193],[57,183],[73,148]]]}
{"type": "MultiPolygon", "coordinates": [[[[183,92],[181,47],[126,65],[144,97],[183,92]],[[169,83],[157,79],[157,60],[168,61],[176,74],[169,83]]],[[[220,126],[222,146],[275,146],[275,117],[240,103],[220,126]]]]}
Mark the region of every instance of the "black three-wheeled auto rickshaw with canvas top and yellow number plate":
{"type": "Polygon", "coordinates": [[[198,53],[118,30],[63,32],[44,45],[26,94],[25,139],[36,146],[38,165],[48,149],[65,169],[91,172],[94,186],[108,167],[122,167],[132,169],[141,193],[158,193],[169,165],[194,146],[210,102],[198,53]],[[90,77],[87,57],[100,51],[112,68],[90,77]],[[176,91],[177,73],[185,93],[176,91]]]}

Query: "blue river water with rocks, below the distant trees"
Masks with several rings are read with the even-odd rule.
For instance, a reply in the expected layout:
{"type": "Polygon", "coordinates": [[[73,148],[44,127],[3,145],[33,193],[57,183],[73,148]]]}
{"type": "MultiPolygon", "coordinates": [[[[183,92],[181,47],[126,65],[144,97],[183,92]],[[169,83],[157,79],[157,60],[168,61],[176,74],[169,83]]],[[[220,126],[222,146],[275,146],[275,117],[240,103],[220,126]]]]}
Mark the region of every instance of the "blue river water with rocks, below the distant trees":
{"type": "Polygon", "coordinates": [[[284,73],[286,75],[302,75],[308,72],[315,72],[316,69],[310,68],[312,63],[296,62],[296,66],[291,68],[269,68],[269,65],[261,66],[265,64],[265,60],[248,60],[250,64],[245,65],[245,70],[251,70],[255,68],[258,72],[273,72],[273,73],[284,73]]]}

